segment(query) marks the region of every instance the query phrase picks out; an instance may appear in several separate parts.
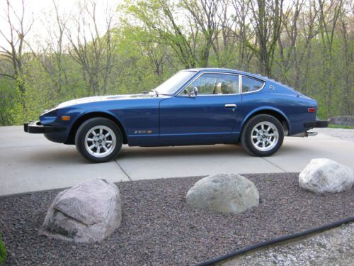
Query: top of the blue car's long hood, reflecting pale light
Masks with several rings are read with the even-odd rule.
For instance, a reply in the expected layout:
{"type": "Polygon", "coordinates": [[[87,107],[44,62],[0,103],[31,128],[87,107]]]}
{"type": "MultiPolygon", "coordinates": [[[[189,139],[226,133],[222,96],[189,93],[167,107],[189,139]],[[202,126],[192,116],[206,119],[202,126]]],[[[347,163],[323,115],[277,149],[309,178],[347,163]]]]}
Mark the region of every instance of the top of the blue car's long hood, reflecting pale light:
{"type": "MultiPolygon", "coordinates": [[[[160,97],[160,96],[159,96],[160,97]]],[[[152,94],[125,94],[125,95],[108,95],[108,96],[92,96],[85,97],[80,99],[75,99],[72,101],[64,101],[62,104],[59,104],[57,108],[64,108],[67,106],[72,106],[76,104],[87,104],[96,101],[116,101],[116,100],[127,100],[127,99],[147,99],[153,98],[152,94]]]]}

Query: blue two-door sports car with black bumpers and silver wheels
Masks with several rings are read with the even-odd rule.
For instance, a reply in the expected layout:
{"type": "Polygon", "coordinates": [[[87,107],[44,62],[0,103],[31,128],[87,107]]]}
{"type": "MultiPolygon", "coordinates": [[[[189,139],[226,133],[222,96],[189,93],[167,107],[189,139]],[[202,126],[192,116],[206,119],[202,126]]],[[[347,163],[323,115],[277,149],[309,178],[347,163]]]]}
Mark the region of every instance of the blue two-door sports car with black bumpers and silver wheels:
{"type": "Polygon", "coordinates": [[[59,104],[24,124],[56,143],[75,144],[92,162],[130,146],[239,143],[251,155],[275,153],[285,135],[328,126],[317,102],[273,79],[226,69],[191,69],[150,92],[93,96],[59,104]]]}

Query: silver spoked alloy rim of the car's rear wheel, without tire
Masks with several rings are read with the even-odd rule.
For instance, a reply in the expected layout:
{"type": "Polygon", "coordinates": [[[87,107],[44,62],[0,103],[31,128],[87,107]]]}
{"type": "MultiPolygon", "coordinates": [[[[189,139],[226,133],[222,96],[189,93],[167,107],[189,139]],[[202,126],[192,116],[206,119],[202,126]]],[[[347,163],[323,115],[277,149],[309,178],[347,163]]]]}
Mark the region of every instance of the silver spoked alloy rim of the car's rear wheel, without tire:
{"type": "Polygon", "coordinates": [[[279,140],[277,127],[270,122],[263,121],[253,126],[251,131],[251,143],[254,148],[262,152],[272,150],[279,140]]]}

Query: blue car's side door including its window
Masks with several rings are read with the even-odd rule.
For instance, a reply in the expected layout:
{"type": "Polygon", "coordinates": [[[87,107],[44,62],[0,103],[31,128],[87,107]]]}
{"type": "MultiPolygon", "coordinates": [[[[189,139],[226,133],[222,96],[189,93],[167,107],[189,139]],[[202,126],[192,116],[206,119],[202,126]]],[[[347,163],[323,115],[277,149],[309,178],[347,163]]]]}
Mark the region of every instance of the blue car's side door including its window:
{"type": "Polygon", "coordinates": [[[227,143],[241,104],[239,75],[203,72],[160,103],[161,145],[227,143]],[[193,88],[198,94],[193,96],[193,88]]]}

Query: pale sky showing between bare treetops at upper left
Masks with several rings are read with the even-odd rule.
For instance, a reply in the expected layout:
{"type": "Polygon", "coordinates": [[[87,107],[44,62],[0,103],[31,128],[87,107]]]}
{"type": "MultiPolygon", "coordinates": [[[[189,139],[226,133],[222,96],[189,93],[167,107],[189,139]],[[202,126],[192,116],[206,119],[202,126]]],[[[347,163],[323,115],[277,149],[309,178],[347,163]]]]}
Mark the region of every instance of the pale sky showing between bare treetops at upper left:
{"type": "MultiPolygon", "coordinates": [[[[22,0],[9,0],[11,6],[16,11],[18,16],[22,15],[22,0]]],[[[33,21],[33,26],[26,36],[26,40],[34,50],[40,50],[45,46],[47,40],[50,40],[50,29],[55,30],[55,9],[53,0],[23,0],[25,4],[25,25],[28,26],[33,21]]],[[[78,16],[79,5],[85,0],[54,0],[58,6],[59,13],[62,16],[69,18],[69,26],[72,27],[74,19],[78,16]]],[[[97,4],[97,21],[101,26],[99,31],[104,32],[106,11],[115,11],[118,4],[123,0],[87,0],[95,1],[97,4]]],[[[6,36],[9,35],[10,30],[6,22],[6,0],[0,0],[0,30],[6,36]]],[[[16,16],[11,12],[11,19],[16,21],[16,16]]],[[[0,35],[0,47],[8,49],[9,45],[6,39],[0,35]]],[[[2,50],[0,48],[0,50],[2,50]]]]}

